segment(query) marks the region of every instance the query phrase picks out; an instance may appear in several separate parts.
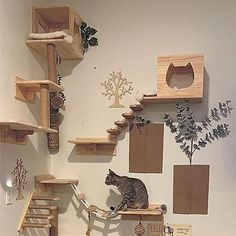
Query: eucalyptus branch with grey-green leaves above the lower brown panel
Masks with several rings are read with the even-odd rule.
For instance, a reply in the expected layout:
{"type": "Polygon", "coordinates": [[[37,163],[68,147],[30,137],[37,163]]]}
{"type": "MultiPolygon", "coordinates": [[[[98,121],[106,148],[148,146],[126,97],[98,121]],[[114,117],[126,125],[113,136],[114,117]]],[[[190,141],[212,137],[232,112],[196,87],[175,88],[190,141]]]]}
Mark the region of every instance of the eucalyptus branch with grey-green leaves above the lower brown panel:
{"type": "Polygon", "coordinates": [[[175,134],[175,141],[180,144],[180,148],[189,158],[190,165],[195,151],[200,151],[207,144],[219,138],[224,138],[229,134],[228,124],[218,124],[213,128],[213,122],[219,122],[221,117],[227,117],[231,113],[230,102],[219,102],[218,107],[211,109],[211,115],[206,117],[200,125],[194,120],[188,101],[183,104],[176,103],[176,123],[174,123],[170,114],[165,114],[164,121],[171,132],[175,134]],[[199,137],[201,136],[200,134],[202,134],[202,137],[199,137]]]}

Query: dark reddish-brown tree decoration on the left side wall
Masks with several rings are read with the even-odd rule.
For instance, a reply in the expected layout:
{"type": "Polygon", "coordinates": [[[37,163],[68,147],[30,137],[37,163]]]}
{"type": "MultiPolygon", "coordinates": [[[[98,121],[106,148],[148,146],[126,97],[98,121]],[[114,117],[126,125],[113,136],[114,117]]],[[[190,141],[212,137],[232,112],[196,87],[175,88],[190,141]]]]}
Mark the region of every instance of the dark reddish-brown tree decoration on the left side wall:
{"type": "Polygon", "coordinates": [[[16,187],[18,194],[16,200],[21,200],[24,198],[22,190],[25,189],[27,185],[26,174],[28,170],[24,167],[23,160],[21,158],[16,160],[16,166],[11,174],[14,176],[13,185],[16,187]]]}

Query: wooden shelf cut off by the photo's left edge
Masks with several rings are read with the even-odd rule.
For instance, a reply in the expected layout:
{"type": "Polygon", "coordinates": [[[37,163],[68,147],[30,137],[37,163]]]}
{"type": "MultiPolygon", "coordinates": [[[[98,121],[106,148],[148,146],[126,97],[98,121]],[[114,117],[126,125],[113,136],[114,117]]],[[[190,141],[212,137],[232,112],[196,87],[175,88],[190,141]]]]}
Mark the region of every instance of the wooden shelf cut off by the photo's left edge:
{"type": "Polygon", "coordinates": [[[0,142],[26,144],[27,136],[34,132],[56,133],[56,130],[46,129],[15,120],[0,121],[0,142]]]}

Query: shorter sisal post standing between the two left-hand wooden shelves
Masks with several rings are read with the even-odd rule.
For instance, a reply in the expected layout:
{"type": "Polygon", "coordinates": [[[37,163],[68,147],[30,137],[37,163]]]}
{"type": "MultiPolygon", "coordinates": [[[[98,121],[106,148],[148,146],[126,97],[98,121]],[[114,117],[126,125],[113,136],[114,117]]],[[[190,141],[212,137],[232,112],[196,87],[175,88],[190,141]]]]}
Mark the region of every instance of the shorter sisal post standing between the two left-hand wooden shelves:
{"type": "Polygon", "coordinates": [[[40,86],[40,126],[44,128],[49,127],[49,86],[42,84],[40,86]]]}

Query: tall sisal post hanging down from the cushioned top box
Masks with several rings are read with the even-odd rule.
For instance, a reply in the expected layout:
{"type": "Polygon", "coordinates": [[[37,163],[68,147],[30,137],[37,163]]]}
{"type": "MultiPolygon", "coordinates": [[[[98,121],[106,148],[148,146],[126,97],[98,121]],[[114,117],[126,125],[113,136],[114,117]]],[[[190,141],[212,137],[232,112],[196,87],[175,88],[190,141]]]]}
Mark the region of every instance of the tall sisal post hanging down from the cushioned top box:
{"type": "MultiPolygon", "coordinates": [[[[54,44],[47,45],[47,61],[48,61],[48,79],[57,83],[56,68],[56,46],[54,44]]],[[[48,133],[48,148],[51,152],[59,150],[59,121],[58,111],[51,106],[51,99],[57,96],[56,92],[50,93],[50,128],[57,130],[57,133],[48,133]]]]}

